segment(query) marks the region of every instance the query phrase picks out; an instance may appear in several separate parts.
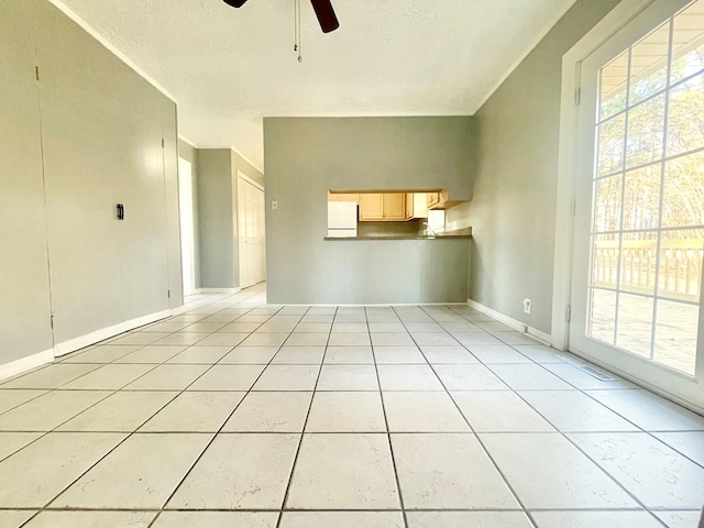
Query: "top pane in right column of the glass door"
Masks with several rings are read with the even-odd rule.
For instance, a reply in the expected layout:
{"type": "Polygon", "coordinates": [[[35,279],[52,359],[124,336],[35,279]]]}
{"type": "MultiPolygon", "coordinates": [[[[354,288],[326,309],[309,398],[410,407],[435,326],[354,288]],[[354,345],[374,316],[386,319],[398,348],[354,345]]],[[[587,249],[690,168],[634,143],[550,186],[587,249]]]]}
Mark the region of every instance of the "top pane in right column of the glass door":
{"type": "Polygon", "coordinates": [[[704,69],[704,2],[694,2],[674,19],[673,62],[670,81],[685,79],[704,69]]]}

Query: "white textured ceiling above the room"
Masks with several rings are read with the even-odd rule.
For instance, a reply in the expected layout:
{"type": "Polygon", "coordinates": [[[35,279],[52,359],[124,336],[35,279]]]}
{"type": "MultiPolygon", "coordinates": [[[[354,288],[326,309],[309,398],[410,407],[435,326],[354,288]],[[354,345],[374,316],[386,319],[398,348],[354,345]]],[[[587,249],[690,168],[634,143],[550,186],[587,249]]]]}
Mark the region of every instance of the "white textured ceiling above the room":
{"type": "Polygon", "coordinates": [[[263,168],[263,118],[472,114],[575,0],[333,0],[322,34],[294,1],[54,0],[178,101],[196,146],[263,168]]]}

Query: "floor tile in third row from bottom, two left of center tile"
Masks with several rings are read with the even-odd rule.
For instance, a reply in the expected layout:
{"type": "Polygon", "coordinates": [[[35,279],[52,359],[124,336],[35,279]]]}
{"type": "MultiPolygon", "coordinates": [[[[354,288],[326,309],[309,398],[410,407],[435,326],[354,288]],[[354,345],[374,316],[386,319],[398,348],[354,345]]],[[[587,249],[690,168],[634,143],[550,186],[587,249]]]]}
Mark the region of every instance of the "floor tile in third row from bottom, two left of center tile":
{"type": "Polygon", "coordinates": [[[217,432],[246,393],[179,394],[140,428],[140,432],[217,432]]]}

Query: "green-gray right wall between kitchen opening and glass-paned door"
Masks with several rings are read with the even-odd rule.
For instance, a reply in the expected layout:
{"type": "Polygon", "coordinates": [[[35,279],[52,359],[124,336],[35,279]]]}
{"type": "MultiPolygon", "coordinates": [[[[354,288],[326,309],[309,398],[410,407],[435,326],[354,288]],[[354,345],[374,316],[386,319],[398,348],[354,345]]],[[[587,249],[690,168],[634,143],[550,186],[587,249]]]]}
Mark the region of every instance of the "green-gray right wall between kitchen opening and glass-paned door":
{"type": "Polygon", "coordinates": [[[562,56],[617,3],[579,0],[476,113],[470,298],[548,333],[562,56]]]}

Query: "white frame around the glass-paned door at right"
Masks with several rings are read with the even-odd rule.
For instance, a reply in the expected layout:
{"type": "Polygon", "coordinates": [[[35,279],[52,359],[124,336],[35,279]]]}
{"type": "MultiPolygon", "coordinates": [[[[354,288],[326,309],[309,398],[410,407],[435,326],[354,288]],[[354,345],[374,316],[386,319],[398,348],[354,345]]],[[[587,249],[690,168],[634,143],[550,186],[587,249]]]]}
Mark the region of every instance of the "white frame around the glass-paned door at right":
{"type": "MultiPolygon", "coordinates": [[[[586,57],[657,1],[658,0],[623,0],[562,57],[562,102],[560,113],[551,328],[551,344],[558,350],[566,351],[569,349],[570,327],[568,322],[568,307],[572,294],[571,279],[574,208],[576,205],[579,101],[581,97],[580,87],[582,85],[581,65],[586,57]]],[[[689,2],[685,2],[685,4],[686,3],[689,2]]],[[[702,318],[704,318],[704,312],[700,314],[700,340],[704,337],[704,321],[702,321],[702,318]]],[[[660,393],[670,399],[676,400],[688,407],[693,407],[690,402],[666,393],[642,380],[637,380],[628,372],[615,369],[610,364],[601,363],[593,358],[586,359],[616,372],[625,378],[636,381],[639,385],[660,393]]],[[[704,373],[704,364],[702,363],[703,362],[697,363],[697,378],[701,378],[704,373]]],[[[695,408],[695,410],[702,411],[704,409],[695,408]]]]}

